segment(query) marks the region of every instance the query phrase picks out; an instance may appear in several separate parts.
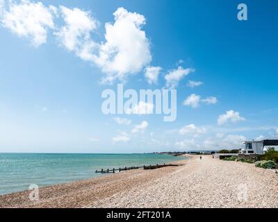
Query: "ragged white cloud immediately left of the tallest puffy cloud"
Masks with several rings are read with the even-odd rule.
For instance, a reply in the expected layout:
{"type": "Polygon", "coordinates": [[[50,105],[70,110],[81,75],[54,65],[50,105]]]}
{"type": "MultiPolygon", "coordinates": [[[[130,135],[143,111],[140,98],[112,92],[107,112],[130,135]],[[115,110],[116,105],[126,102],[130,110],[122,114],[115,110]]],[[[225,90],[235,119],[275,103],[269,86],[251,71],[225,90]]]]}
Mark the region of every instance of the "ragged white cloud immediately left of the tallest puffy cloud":
{"type": "Polygon", "coordinates": [[[97,20],[90,15],[90,12],[79,8],[70,9],[60,6],[60,13],[65,26],[59,28],[54,35],[67,50],[74,51],[76,56],[83,60],[92,61],[97,44],[91,40],[90,33],[97,28],[97,20]]]}

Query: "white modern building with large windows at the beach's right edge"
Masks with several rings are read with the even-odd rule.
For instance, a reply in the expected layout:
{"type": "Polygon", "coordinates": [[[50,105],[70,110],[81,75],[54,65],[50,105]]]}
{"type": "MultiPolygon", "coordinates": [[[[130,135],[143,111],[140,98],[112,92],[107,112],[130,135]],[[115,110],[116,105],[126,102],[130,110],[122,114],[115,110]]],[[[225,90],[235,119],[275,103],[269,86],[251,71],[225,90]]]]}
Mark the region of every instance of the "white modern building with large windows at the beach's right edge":
{"type": "Polygon", "coordinates": [[[278,139],[264,139],[261,141],[245,141],[243,148],[240,148],[241,154],[263,154],[268,149],[275,148],[278,151],[278,139]]]}

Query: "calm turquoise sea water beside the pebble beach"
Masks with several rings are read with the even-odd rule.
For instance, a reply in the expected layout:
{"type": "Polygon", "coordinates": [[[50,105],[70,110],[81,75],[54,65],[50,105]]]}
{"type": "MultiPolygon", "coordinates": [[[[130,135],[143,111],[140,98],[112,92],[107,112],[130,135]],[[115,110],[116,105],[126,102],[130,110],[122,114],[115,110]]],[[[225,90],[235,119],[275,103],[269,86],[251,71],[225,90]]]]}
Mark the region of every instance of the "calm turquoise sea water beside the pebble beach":
{"type": "Polygon", "coordinates": [[[103,176],[96,169],[163,164],[184,157],[159,154],[0,153],[0,194],[103,176]]]}

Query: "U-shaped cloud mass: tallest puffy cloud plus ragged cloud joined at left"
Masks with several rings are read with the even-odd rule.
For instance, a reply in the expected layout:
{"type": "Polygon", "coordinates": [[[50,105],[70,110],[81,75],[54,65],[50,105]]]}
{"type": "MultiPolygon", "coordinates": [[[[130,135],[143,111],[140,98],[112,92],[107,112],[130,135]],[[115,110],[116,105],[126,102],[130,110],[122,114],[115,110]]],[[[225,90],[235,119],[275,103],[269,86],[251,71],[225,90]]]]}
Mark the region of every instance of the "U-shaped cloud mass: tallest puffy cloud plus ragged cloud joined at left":
{"type": "Polygon", "coordinates": [[[145,17],[136,12],[118,8],[114,24],[106,23],[106,42],[98,44],[90,34],[97,28],[97,20],[79,8],[60,6],[65,26],[55,33],[69,51],[83,60],[95,63],[106,74],[103,83],[125,80],[152,61],[149,40],[141,28],[145,17]]]}

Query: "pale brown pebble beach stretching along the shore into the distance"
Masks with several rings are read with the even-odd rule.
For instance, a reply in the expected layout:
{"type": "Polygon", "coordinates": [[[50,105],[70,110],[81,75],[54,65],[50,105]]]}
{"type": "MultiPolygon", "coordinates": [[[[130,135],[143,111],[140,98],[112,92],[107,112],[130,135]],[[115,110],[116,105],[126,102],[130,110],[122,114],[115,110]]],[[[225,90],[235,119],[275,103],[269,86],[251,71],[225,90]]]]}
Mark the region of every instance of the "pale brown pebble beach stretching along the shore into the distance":
{"type": "Polygon", "coordinates": [[[0,207],[278,207],[278,176],[254,164],[186,155],[180,167],[136,169],[0,196],[0,207]],[[246,189],[246,190],[245,190],[246,189]],[[240,194],[243,193],[243,199],[240,194]]]}

